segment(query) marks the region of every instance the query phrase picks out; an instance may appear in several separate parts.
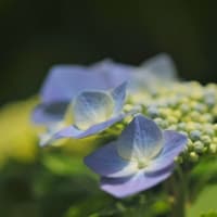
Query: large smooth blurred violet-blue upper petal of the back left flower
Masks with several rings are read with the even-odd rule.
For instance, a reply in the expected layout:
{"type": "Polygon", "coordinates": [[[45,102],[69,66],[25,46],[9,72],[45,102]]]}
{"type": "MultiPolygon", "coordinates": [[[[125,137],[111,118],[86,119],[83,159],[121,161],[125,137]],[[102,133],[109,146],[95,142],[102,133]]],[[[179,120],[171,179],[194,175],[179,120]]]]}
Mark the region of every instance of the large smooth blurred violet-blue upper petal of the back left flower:
{"type": "Polygon", "coordinates": [[[59,65],[50,69],[41,88],[42,102],[71,101],[84,90],[106,90],[120,85],[128,79],[124,72],[116,74],[107,66],[106,72],[98,67],[79,65],[59,65]]]}

